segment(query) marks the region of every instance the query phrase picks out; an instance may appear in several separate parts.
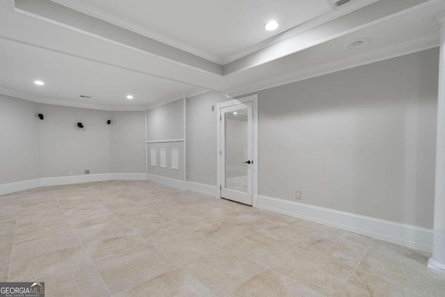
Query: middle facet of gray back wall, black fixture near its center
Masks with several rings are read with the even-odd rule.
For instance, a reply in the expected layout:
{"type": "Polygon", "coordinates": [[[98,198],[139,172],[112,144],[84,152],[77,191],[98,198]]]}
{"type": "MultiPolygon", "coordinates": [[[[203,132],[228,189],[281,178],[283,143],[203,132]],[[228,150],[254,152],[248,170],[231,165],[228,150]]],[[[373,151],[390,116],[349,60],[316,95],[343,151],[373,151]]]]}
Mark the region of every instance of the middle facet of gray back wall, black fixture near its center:
{"type": "Polygon", "coordinates": [[[40,177],[111,172],[109,111],[40,104],[40,177]],[[82,122],[84,128],[77,127],[82,122]],[[57,174],[56,174],[57,172],[57,174]]]}

